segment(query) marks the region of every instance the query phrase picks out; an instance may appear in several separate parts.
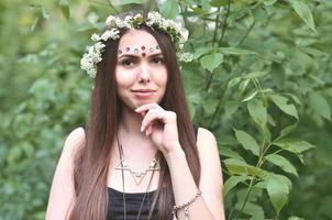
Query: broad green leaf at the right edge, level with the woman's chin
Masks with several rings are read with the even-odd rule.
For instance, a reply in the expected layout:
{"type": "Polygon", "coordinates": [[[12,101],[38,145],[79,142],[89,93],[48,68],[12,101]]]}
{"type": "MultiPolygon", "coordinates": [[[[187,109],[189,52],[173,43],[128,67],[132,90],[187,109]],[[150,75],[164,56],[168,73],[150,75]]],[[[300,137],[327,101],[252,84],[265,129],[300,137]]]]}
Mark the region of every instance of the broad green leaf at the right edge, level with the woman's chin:
{"type": "Polygon", "coordinates": [[[331,107],[322,95],[316,91],[310,92],[309,103],[319,116],[331,121],[331,107]]]}

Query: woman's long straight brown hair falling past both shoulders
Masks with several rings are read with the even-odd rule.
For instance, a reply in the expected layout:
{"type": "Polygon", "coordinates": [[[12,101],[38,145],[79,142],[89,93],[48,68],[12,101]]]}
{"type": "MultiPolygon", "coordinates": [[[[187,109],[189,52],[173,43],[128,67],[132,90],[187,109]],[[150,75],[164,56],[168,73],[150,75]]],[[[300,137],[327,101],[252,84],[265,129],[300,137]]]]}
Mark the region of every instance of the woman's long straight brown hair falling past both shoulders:
{"type": "MultiPolygon", "coordinates": [[[[166,91],[159,106],[177,114],[179,142],[186,154],[193,179],[198,185],[200,163],[185,89],[176,59],[176,48],[167,34],[145,25],[139,29],[151,33],[158,42],[163,53],[168,78],[166,91]]],[[[122,30],[121,35],[126,31],[122,30]]],[[[110,155],[114,148],[113,142],[121,119],[122,106],[117,95],[114,77],[118,46],[119,40],[109,41],[102,55],[102,61],[98,64],[91,97],[87,140],[85,146],[77,152],[74,164],[76,199],[69,213],[70,220],[102,220],[107,217],[109,202],[107,188],[108,168],[110,155]]],[[[174,195],[167,163],[163,154],[158,154],[161,158],[161,177],[150,217],[152,217],[153,209],[157,207],[157,219],[167,220],[171,218],[174,195]]]]}

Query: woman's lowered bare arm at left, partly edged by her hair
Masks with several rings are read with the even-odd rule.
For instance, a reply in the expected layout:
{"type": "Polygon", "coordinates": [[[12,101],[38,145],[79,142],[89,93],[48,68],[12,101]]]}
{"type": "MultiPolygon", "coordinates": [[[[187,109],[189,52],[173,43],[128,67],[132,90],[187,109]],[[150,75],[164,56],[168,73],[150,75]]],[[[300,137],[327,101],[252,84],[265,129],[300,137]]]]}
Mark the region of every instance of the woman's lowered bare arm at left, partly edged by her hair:
{"type": "Polygon", "coordinates": [[[55,169],[46,210],[46,220],[63,220],[69,215],[75,201],[74,189],[74,155],[85,143],[85,131],[77,128],[65,141],[62,156],[55,169]]]}

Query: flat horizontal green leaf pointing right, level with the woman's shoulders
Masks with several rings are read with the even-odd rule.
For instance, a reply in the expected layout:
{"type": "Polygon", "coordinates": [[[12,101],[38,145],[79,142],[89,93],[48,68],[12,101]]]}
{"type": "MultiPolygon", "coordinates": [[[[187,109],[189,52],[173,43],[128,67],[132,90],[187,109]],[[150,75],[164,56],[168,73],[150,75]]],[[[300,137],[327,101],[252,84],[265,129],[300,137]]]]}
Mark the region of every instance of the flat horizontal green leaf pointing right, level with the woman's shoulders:
{"type": "Polygon", "coordinates": [[[281,139],[279,141],[273,142],[273,144],[280,146],[281,148],[296,153],[296,154],[300,154],[305,151],[308,151],[309,148],[313,148],[314,145],[299,140],[299,139],[292,139],[292,138],[286,138],[286,139],[281,139]]]}

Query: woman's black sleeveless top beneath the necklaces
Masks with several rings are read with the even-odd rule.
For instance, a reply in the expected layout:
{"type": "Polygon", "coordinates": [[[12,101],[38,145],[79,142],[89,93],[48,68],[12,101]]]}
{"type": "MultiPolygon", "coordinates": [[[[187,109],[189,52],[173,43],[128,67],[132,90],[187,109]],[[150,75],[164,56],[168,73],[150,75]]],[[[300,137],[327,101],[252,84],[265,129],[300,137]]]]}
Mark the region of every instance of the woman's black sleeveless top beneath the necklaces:
{"type": "MultiPolygon", "coordinates": [[[[197,138],[198,127],[192,124],[195,136],[197,138]]],[[[82,125],[86,130],[86,125],[82,125]]],[[[141,220],[146,220],[150,212],[150,207],[153,201],[153,195],[156,191],[148,191],[141,212],[141,220]]],[[[125,193],[126,219],[136,220],[139,210],[145,193],[125,193]]],[[[123,193],[108,187],[109,205],[107,220],[123,220],[123,193]]],[[[152,220],[156,220],[157,210],[154,209],[152,220]]]]}

